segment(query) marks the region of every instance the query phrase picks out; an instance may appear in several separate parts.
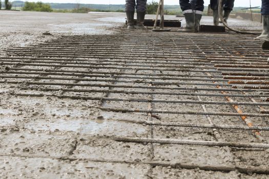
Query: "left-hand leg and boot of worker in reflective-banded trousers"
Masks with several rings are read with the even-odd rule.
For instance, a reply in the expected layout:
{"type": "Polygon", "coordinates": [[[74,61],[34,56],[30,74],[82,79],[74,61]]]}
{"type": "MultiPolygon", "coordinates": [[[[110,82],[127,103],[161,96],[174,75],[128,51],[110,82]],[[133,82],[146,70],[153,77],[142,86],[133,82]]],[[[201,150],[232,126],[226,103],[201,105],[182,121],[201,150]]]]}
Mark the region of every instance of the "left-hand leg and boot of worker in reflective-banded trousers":
{"type": "Polygon", "coordinates": [[[179,32],[194,32],[194,13],[189,0],[179,0],[180,8],[185,16],[186,27],[179,29],[179,32]]]}

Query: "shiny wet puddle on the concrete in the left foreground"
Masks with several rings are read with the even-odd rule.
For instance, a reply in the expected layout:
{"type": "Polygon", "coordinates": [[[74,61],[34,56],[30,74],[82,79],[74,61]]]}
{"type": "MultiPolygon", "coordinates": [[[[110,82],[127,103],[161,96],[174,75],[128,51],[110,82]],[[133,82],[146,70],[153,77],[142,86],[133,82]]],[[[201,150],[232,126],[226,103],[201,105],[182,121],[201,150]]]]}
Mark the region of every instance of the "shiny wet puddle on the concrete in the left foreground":
{"type": "Polygon", "coordinates": [[[57,121],[31,121],[25,124],[26,128],[35,130],[74,131],[87,135],[128,135],[133,132],[142,134],[146,129],[137,124],[129,124],[107,120],[63,120],[57,121]]]}

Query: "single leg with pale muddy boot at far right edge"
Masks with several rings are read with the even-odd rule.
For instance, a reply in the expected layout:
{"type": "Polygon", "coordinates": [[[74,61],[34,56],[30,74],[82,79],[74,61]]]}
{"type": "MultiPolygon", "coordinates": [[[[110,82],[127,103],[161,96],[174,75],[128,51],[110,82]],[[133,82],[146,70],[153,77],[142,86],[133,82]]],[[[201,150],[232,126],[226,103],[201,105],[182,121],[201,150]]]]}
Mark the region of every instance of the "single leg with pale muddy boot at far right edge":
{"type": "Polygon", "coordinates": [[[261,1],[261,15],[262,15],[262,34],[257,38],[269,39],[269,1],[261,1]]]}

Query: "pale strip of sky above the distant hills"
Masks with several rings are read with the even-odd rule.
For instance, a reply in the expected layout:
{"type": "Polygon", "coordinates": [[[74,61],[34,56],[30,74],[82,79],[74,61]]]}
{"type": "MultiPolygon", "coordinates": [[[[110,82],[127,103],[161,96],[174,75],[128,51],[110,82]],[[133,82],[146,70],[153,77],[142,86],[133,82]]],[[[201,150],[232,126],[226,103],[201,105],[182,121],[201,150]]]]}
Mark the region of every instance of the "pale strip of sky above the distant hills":
{"type": "MultiPolygon", "coordinates": [[[[28,2],[44,3],[81,3],[81,4],[125,4],[125,0],[29,0],[28,2]]],[[[151,2],[152,0],[148,0],[151,2]]],[[[153,0],[158,2],[158,0],[153,0]]],[[[164,5],[178,5],[178,0],[165,0],[164,5]]],[[[204,5],[209,5],[210,0],[204,0],[204,5]]],[[[251,0],[251,6],[261,6],[261,0],[251,0]]],[[[250,7],[250,0],[235,0],[235,7],[250,7]]]]}

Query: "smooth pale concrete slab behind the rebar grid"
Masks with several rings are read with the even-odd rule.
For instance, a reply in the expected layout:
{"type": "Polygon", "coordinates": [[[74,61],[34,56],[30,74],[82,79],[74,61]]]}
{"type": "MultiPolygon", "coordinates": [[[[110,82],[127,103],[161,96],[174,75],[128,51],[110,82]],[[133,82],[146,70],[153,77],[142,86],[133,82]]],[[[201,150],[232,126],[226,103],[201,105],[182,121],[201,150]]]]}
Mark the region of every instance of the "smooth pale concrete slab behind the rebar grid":
{"type": "MultiPolygon", "coordinates": [[[[42,42],[60,34],[111,34],[113,28],[125,24],[125,13],[46,13],[0,11],[0,50],[11,46],[24,47],[34,42],[42,42]],[[52,35],[44,35],[49,32],[52,35]]],[[[155,15],[147,14],[146,18],[154,19],[155,15]]],[[[174,15],[165,15],[165,19],[185,20],[174,15]]],[[[203,16],[201,24],[212,25],[212,18],[203,16]]],[[[260,30],[260,23],[229,19],[229,25],[240,30],[260,30]]]]}

